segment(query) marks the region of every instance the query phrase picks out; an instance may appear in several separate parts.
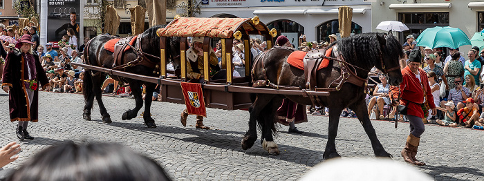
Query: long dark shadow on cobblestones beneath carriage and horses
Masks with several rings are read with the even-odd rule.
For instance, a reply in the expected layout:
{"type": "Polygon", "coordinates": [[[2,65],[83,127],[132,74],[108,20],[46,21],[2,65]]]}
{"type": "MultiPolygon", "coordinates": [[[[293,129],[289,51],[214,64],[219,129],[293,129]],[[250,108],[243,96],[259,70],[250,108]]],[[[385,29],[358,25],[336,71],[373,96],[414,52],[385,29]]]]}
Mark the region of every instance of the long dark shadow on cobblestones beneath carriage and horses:
{"type": "MultiPolygon", "coordinates": [[[[127,128],[133,131],[141,131],[149,134],[156,134],[163,137],[170,137],[176,140],[180,140],[183,142],[193,142],[196,144],[203,144],[207,146],[216,147],[219,149],[228,149],[232,151],[239,151],[241,153],[245,153],[248,155],[258,155],[263,156],[266,158],[272,159],[279,159],[284,160],[286,162],[293,162],[296,164],[304,164],[306,166],[315,166],[319,164],[319,162],[323,161],[322,151],[314,151],[309,149],[302,149],[295,146],[288,146],[285,144],[278,144],[279,151],[281,151],[280,155],[269,155],[267,151],[264,151],[261,146],[261,140],[256,140],[254,146],[247,151],[244,151],[241,148],[241,140],[242,135],[244,132],[239,131],[225,131],[225,130],[200,130],[195,128],[180,128],[175,126],[158,126],[157,128],[147,128],[144,124],[137,124],[137,123],[120,123],[120,122],[113,122],[109,124],[110,126],[117,126],[122,128],[127,128]],[[154,133],[158,132],[158,133],[154,133]],[[164,133],[183,133],[189,135],[196,135],[196,137],[173,137],[170,135],[164,135],[164,133]],[[230,134],[237,134],[240,136],[234,136],[230,134]],[[295,159],[293,154],[297,155],[304,155],[301,159],[295,159]]],[[[260,133],[259,133],[260,136],[260,133]]]]}

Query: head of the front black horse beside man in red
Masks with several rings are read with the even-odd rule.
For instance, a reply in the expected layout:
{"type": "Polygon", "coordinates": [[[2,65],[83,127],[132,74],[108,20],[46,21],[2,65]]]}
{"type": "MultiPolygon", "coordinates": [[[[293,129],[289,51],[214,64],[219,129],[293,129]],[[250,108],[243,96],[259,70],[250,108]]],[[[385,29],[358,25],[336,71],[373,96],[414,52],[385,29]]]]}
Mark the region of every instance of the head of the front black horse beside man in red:
{"type": "Polygon", "coordinates": [[[382,52],[381,62],[376,66],[387,74],[390,85],[398,86],[402,82],[402,70],[400,70],[400,59],[404,57],[402,45],[393,35],[379,33],[376,36],[382,52]]]}

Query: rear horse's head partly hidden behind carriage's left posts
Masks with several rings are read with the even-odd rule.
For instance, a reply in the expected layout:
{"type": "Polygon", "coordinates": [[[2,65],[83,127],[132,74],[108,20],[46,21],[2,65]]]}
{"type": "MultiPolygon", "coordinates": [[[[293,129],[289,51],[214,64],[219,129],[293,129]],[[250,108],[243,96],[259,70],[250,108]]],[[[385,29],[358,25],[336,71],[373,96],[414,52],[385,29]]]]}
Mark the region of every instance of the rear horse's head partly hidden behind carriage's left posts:
{"type": "MultiPolygon", "coordinates": [[[[156,30],[165,28],[166,25],[153,26],[142,33],[143,51],[151,55],[160,56],[160,37],[156,35],[156,30]]],[[[151,57],[148,57],[151,58],[151,57]]],[[[173,61],[175,69],[180,68],[180,38],[167,37],[165,47],[165,59],[173,61]]],[[[156,61],[160,61],[156,59],[156,61]]]]}

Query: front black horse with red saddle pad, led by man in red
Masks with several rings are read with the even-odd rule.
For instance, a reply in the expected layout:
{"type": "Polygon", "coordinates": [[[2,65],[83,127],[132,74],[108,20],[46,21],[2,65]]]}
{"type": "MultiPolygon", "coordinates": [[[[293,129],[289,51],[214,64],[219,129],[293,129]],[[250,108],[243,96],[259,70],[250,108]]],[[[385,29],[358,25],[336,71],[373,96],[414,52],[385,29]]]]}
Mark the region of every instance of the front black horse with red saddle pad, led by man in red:
{"type": "MultiPolygon", "coordinates": [[[[383,70],[389,76],[389,84],[398,86],[402,81],[402,74],[400,73],[399,60],[403,57],[402,46],[398,39],[391,35],[382,33],[364,33],[347,37],[333,43],[337,45],[337,53],[341,55],[337,57],[359,68],[353,66],[352,69],[357,77],[366,79],[369,70],[376,66],[383,70]]],[[[272,48],[265,54],[259,55],[260,59],[254,64],[252,68],[252,76],[254,81],[267,79],[278,86],[295,86],[305,87],[306,79],[304,77],[304,70],[290,66],[286,59],[294,50],[286,48],[272,48]],[[263,64],[263,65],[261,65],[263,64]],[[265,71],[263,71],[265,68],[265,71]],[[266,74],[266,75],[264,75],[266,74]]],[[[317,71],[317,87],[328,88],[329,85],[337,77],[341,75],[342,61],[337,59],[330,59],[328,68],[322,68],[317,71]]],[[[339,114],[343,108],[351,108],[355,111],[358,120],[362,124],[366,134],[371,140],[373,151],[378,157],[391,157],[387,151],[384,150],[382,144],[376,136],[375,129],[371,125],[369,115],[366,109],[364,98],[364,86],[356,86],[351,83],[344,83],[340,90],[333,91],[329,96],[319,96],[322,106],[329,107],[329,128],[328,128],[328,142],[326,150],[324,151],[324,159],[340,157],[336,151],[335,138],[337,135],[339,114]]],[[[278,155],[279,149],[274,143],[273,135],[276,131],[274,126],[274,114],[277,108],[281,106],[283,98],[288,98],[297,104],[310,105],[312,104],[310,97],[303,97],[301,95],[270,95],[257,94],[257,98],[250,106],[250,121],[249,130],[245,133],[241,146],[243,149],[249,149],[257,140],[257,123],[262,131],[261,142],[263,149],[268,151],[271,155],[278,155]]]]}

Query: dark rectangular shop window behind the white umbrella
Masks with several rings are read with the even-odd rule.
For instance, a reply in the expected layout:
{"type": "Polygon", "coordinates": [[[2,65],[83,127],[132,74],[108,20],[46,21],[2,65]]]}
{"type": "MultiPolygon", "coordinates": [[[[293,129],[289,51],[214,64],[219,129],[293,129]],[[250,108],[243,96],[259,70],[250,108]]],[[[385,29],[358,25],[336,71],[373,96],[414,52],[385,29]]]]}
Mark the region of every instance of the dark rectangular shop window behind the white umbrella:
{"type": "Polygon", "coordinates": [[[398,14],[398,20],[409,28],[400,32],[400,42],[404,42],[408,35],[417,39],[427,28],[449,26],[449,12],[402,12],[398,14]]]}

